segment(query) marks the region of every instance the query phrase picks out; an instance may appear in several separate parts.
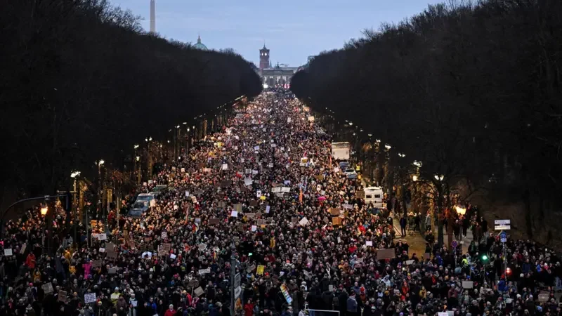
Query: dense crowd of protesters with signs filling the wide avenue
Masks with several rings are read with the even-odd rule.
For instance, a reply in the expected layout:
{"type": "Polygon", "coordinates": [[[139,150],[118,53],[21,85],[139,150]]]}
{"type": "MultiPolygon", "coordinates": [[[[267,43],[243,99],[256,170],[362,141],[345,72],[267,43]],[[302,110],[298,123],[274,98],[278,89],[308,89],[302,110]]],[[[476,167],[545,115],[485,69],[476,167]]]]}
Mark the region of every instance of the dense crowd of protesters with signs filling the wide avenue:
{"type": "Polygon", "coordinates": [[[465,251],[426,238],[431,256],[414,254],[390,214],[358,197],[361,181],[298,100],[263,93],[235,110],[143,183],[167,187],[114,230],[61,237],[62,208],[50,235],[39,209],[9,222],[0,315],[228,316],[232,263],[244,316],[561,315],[551,249],[482,231],[465,251]]]}

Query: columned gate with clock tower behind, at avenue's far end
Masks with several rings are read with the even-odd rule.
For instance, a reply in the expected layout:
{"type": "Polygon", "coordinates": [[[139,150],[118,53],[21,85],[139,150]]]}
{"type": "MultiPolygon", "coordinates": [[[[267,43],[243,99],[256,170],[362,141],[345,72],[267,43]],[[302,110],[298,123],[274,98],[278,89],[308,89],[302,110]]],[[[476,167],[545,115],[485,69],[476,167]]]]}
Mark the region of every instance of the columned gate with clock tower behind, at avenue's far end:
{"type": "Polygon", "coordinates": [[[279,64],[271,67],[269,49],[266,45],[259,50],[259,75],[263,86],[285,86],[289,87],[293,74],[299,67],[289,67],[287,64],[279,64]]]}

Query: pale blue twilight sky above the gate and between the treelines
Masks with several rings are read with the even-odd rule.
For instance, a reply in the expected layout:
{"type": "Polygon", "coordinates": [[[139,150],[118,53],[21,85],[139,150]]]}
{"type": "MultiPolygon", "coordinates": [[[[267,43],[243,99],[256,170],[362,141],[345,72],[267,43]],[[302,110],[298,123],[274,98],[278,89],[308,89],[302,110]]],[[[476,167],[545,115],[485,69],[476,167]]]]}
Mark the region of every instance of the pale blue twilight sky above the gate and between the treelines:
{"type": "MultiPolygon", "coordinates": [[[[150,0],[110,0],[144,18],[149,29],[150,0]]],[[[366,28],[400,22],[427,4],[443,0],[156,0],[156,31],[167,39],[209,49],[234,48],[259,65],[259,49],[270,49],[271,63],[306,64],[309,55],[341,48],[366,28]]]]}

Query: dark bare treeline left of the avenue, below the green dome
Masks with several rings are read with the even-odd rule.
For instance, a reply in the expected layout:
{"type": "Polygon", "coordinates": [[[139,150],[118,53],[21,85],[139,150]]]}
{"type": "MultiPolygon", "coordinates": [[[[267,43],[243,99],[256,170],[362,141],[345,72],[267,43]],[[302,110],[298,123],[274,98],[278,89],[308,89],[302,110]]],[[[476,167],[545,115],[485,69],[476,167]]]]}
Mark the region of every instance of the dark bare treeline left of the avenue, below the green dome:
{"type": "Polygon", "coordinates": [[[249,62],[145,34],[105,0],[0,5],[4,205],[51,194],[94,162],[119,168],[134,143],[261,91],[249,62]],[[11,201],[6,201],[6,199],[11,201]]]}

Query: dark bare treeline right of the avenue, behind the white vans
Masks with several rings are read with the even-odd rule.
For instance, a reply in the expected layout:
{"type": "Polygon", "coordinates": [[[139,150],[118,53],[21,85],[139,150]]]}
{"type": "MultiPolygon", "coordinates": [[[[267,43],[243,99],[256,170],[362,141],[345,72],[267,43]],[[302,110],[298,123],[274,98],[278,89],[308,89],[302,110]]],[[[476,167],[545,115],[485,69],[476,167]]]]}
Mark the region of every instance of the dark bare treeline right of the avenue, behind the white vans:
{"type": "Polygon", "coordinates": [[[561,70],[562,1],[451,1],[321,53],[292,90],[428,181],[520,201],[532,235],[561,206],[561,70]]]}

